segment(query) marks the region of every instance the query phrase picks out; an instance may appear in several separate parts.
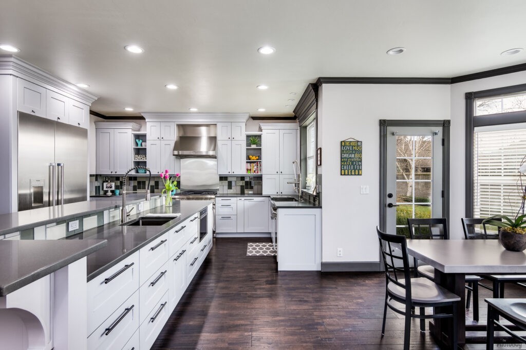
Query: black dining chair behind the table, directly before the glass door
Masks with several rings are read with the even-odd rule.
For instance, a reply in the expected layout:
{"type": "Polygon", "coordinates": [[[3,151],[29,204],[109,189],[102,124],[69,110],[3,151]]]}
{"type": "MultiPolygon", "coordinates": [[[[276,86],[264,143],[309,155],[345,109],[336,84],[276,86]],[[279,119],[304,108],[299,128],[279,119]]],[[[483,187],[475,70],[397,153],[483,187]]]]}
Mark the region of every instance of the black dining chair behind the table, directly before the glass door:
{"type": "MultiPolygon", "coordinates": [[[[448,220],[446,218],[407,219],[411,239],[449,239],[448,220]]],[[[413,258],[416,275],[434,281],[434,268],[430,265],[418,266],[417,258],[413,258]]],[[[476,275],[466,275],[466,310],[469,310],[471,295],[473,295],[473,320],[479,321],[479,281],[476,275]]],[[[424,325],[421,330],[424,331],[424,325]]]]}

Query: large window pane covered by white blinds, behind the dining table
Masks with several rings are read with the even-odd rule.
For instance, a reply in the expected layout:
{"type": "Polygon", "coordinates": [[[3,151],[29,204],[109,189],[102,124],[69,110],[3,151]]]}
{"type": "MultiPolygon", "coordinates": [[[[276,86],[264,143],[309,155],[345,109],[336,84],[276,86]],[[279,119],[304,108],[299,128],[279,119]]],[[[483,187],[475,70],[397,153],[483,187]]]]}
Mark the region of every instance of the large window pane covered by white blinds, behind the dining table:
{"type": "Polygon", "coordinates": [[[481,126],[473,136],[474,217],[515,216],[522,200],[519,167],[526,155],[526,124],[481,126]]]}

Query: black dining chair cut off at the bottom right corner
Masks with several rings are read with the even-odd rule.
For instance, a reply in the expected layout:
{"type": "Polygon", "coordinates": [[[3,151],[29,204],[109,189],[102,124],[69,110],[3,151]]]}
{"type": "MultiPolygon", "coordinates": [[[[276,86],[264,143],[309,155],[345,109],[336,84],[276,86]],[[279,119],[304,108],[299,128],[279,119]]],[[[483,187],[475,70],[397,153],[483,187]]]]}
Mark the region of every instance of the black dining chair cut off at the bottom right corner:
{"type": "MultiPolygon", "coordinates": [[[[504,325],[500,317],[511,322],[513,325],[526,331],[526,299],[485,299],[488,303],[488,325],[486,334],[486,349],[493,350],[494,331],[504,331],[511,335],[515,340],[526,344],[526,338],[512,331],[509,325],[504,325]]],[[[512,344],[510,344],[512,345],[512,344]]]]}

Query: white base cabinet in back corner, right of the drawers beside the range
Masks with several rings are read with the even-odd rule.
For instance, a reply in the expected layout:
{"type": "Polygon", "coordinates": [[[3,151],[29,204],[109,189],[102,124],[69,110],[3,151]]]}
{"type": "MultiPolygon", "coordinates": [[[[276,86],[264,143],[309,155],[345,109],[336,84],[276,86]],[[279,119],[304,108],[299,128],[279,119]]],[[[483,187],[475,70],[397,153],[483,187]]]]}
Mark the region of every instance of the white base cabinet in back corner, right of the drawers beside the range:
{"type": "Polygon", "coordinates": [[[237,232],[269,232],[268,197],[239,197],[237,199],[237,232]]]}

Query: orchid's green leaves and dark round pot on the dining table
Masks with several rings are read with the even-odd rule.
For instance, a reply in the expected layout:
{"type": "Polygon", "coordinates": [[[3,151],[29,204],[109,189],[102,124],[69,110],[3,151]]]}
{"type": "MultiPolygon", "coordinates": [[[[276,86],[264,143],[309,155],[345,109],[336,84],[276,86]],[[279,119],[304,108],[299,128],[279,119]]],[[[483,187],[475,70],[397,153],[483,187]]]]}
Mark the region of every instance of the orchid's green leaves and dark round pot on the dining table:
{"type": "Polygon", "coordinates": [[[523,251],[526,249],[526,215],[518,215],[510,218],[506,215],[493,215],[482,221],[499,227],[499,241],[506,250],[523,251]],[[495,220],[497,218],[502,221],[495,220]]]}

